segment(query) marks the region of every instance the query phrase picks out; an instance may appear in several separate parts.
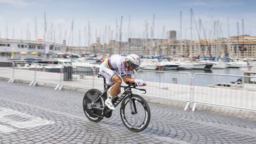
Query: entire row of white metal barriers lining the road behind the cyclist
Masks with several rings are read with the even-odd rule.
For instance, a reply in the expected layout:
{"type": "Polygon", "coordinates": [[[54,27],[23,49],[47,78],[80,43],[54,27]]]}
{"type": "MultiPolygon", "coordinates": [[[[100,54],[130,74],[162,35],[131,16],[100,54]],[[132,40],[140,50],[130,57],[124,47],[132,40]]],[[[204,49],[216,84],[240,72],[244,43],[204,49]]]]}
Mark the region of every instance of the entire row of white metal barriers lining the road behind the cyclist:
{"type": "MultiPolygon", "coordinates": [[[[82,89],[103,89],[102,78],[97,78],[95,67],[63,67],[63,65],[38,64],[28,62],[0,62],[0,77],[24,79],[35,86],[38,82],[56,84],[55,89],[63,86],[82,89]]],[[[256,111],[256,79],[252,76],[230,74],[169,72],[138,70],[134,77],[147,82],[144,96],[151,96],[186,103],[185,109],[193,104],[227,106],[237,109],[256,111]],[[231,84],[241,79],[241,84],[231,84]]],[[[137,91],[134,91],[137,93],[137,91]]],[[[139,93],[140,94],[140,93],[139,93]]]]}

